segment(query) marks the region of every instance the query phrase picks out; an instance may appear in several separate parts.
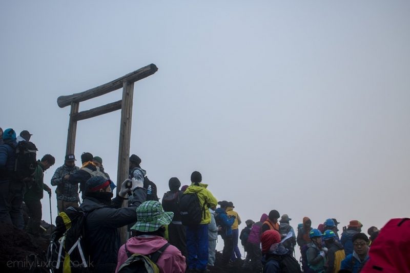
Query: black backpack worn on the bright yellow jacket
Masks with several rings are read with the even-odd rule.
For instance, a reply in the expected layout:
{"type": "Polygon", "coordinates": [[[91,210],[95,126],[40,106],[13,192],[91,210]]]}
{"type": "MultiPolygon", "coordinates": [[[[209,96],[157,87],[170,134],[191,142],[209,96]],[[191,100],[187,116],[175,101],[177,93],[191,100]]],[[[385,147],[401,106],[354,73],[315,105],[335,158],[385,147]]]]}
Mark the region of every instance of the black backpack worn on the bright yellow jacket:
{"type": "MultiPolygon", "coordinates": [[[[198,225],[206,216],[206,202],[203,207],[196,193],[184,193],[179,200],[179,214],[183,225],[198,225]]],[[[215,217],[216,220],[216,217],[215,217]]]]}

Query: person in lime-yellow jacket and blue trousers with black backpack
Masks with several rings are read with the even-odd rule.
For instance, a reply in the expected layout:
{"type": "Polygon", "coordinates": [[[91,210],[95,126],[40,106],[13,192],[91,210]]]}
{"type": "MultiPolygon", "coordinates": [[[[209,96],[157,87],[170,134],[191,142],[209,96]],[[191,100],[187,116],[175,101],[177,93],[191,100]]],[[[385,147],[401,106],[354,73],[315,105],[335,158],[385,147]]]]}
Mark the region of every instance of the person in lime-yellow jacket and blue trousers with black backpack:
{"type": "Polygon", "coordinates": [[[187,226],[188,269],[206,272],[208,263],[208,224],[211,222],[209,208],[216,208],[218,200],[201,183],[198,171],[191,174],[192,184],[183,192],[180,214],[187,226]]]}

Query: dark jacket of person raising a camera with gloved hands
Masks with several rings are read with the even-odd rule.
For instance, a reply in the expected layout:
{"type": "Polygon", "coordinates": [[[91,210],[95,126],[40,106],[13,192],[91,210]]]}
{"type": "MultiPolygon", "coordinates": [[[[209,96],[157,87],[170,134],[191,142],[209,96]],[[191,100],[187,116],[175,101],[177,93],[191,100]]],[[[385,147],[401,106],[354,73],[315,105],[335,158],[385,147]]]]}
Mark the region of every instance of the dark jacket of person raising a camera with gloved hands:
{"type": "Polygon", "coordinates": [[[117,264],[117,254],[120,247],[118,227],[135,222],[136,207],[146,200],[147,191],[136,188],[133,192],[133,207],[121,208],[123,198],[117,196],[111,201],[111,206],[100,202],[94,197],[85,196],[80,208],[86,213],[85,244],[94,265],[104,268],[117,264]]]}

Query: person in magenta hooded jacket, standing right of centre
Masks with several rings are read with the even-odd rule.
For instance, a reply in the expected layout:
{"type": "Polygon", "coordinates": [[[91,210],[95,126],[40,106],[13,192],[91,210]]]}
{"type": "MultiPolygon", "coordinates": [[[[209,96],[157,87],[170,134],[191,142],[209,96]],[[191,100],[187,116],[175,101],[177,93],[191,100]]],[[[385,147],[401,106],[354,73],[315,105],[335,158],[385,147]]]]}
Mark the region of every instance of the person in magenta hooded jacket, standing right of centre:
{"type": "Polygon", "coordinates": [[[259,222],[256,222],[252,225],[251,233],[248,237],[248,249],[249,253],[249,267],[251,270],[260,272],[262,269],[262,252],[260,250],[260,238],[262,237],[262,224],[268,219],[268,214],[263,213],[260,216],[259,222]]]}

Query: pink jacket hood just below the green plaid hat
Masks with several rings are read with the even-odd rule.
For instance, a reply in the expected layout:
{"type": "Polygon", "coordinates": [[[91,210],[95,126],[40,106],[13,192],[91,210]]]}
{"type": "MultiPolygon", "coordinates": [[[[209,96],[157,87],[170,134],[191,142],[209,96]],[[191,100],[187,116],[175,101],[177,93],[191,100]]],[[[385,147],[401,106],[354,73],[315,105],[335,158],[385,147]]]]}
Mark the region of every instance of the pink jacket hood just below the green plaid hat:
{"type": "Polygon", "coordinates": [[[156,252],[168,241],[157,235],[140,235],[132,237],[126,242],[127,249],[131,253],[149,255],[156,252]]]}

